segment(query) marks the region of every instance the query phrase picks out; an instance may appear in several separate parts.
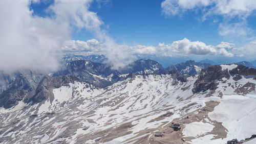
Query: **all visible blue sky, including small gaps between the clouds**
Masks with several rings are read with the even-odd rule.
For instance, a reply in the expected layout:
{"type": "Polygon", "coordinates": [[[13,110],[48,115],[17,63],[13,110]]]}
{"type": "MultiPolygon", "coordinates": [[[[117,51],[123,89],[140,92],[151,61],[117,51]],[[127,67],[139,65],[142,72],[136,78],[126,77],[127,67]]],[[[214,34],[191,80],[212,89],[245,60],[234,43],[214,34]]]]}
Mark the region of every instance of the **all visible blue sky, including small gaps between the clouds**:
{"type": "MultiPolygon", "coordinates": [[[[49,16],[45,9],[54,1],[32,4],[35,15],[49,16]]],[[[172,43],[176,40],[188,38],[191,41],[203,41],[207,45],[218,45],[221,41],[229,41],[241,45],[245,41],[237,41],[228,36],[218,34],[219,22],[222,17],[214,15],[202,20],[200,10],[189,11],[181,15],[166,16],[162,13],[163,1],[109,1],[108,3],[93,2],[90,11],[104,22],[102,29],[108,31],[113,39],[119,43],[129,45],[157,45],[159,42],[172,43]],[[100,5],[100,6],[99,6],[100,5]],[[218,20],[216,22],[215,20],[218,20]]],[[[248,17],[248,26],[255,30],[255,15],[248,17]]],[[[229,22],[232,22],[233,19],[229,22]]],[[[95,38],[85,30],[74,28],[72,39],[83,40],[95,38]]]]}

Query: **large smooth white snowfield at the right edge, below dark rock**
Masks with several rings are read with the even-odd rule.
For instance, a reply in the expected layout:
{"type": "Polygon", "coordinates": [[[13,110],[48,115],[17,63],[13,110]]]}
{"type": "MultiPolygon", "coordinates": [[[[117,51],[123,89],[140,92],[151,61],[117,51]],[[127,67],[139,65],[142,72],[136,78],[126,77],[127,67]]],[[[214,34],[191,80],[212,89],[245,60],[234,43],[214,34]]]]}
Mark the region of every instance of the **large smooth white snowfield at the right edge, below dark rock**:
{"type": "Polygon", "coordinates": [[[226,139],[244,139],[255,133],[256,99],[241,95],[223,95],[223,101],[209,112],[211,120],[222,122],[226,139]]]}

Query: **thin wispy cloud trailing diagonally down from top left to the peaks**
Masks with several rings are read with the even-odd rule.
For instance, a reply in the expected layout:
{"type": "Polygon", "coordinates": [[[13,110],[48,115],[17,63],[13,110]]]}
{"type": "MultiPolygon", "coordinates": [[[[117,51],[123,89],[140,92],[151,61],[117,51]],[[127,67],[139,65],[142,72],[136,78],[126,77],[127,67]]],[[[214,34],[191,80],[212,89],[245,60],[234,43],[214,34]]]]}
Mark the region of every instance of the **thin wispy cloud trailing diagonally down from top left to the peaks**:
{"type": "Polygon", "coordinates": [[[101,29],[103,21],[97,16],[97,13],[89,11],[91,2],[92,0],[55,0],[55,4],[52,5],[49,10],[56,13],[58,20],[69,21],[72,26],[86,29],[94,34],[95,37],[99,39],[100,43],[102,43],[98,46],[96,42],[94,43],[96,45],[93,46],[88,45],[90,43],[92,44],[92,41],[87,41],[87,43],[76,41],[78,47],[85,44],[88,46],[84,46],[84,50],[89,49],[91,52],[103,51],[108,58],[106,63],[110,64],[112,68],[124,67],[132,62],[134,58],[128,55],[129,52],[127,52],[127,50],[129,49],[126,49],[126,46],[118,45],[104,30],[101,29]]]}

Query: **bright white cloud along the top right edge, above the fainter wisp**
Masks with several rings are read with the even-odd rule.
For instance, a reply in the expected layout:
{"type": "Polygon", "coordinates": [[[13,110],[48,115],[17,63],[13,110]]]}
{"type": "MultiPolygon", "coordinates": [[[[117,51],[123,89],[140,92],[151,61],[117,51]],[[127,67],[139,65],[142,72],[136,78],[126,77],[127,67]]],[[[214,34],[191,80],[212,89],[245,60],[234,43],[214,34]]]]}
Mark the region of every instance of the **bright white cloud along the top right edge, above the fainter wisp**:
{"type": "Polygon", "coordinates": [[[206,10],[206,15],[247,17],[256,9],[256,3],[254,0],[165,0],[161,3],[162,12],[165,15],[177,15],[186,10],[201,9],[202,7],[209,7],[206,10]]]}

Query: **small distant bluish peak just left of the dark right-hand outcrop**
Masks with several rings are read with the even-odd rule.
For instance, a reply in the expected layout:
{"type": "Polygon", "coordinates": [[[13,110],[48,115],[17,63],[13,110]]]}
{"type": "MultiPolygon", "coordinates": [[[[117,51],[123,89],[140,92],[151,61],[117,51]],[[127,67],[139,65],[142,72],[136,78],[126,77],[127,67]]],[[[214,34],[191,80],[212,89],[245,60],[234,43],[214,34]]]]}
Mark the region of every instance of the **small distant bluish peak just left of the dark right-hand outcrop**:
{"type": "Polygon", "coordinates": [[[193,60],[186,61],[185,63],[179,63],[176,65],[170,65],[166,68],[166,70],[179,70],[181,74],[186,75],[193,75],[193,74],[200,74],[202,68],[208,67],[210,64],[208,63],[200,63],[195,62],[193,60]]]}

